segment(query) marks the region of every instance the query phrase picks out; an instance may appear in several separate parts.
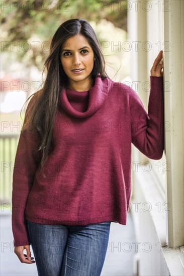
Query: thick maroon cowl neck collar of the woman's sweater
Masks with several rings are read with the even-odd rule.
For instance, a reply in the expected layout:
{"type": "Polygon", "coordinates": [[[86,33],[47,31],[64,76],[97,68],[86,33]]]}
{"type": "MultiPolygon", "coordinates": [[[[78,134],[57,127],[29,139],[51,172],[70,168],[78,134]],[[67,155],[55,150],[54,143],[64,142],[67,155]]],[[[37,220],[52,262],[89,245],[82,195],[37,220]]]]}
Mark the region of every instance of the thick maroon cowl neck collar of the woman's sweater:
{"type": "MultiPolygon", "coordinates": [[[[66,93],[66,88],[61,87],[63,89],[61,93],[61,108],[68,114],[70,114],[73,117],[76,118],[86,118],[91,115],[93,115],[95,112],[99,110],[99,108],[103,105],[108,93],[109,93],[109,87],[110,87],[110,79],[107,77],[105,79],[102,79],[100,74],[95,79],[95,84],[94,86],[91,86],[88,91],[88,108],[85,112],[78,111],[72,107],[70,104],[67,93],[66,93]]],[[[67,90],[68,92],[69,90],[67,90]]],[[[74,90],[71,90],[73,92],[74,90]]],[[[77,97],[80,95],[85,96],[87,91],[85,92],[76,92],[76,101],[77,97]],[[81,93],[81,94],[79,94],[81,93]],[[84,93],[82,95],[82,93],[84,93]]],[[[72,93],[72,98],[73,98],[73,93],[72,93]]]]}

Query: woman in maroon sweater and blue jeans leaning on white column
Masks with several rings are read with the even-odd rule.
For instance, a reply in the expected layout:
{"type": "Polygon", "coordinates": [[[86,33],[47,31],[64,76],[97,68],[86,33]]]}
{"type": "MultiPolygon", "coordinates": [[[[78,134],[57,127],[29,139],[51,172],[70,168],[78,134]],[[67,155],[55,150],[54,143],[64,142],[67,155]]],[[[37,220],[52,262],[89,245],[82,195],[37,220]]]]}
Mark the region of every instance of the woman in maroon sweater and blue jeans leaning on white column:
{"type": "Polygon", "coordinates": [[[151,69],[148,114],[133,89],[107,76],[85,20],[57,29],[44,67],[44,87],[28,104],[15,159],[15,253],[34,263],[32,245],[41,276],[97,276],[111,221],[126,224],[131,143],[151,159],[163,154],[162,51],[151,69]]]}

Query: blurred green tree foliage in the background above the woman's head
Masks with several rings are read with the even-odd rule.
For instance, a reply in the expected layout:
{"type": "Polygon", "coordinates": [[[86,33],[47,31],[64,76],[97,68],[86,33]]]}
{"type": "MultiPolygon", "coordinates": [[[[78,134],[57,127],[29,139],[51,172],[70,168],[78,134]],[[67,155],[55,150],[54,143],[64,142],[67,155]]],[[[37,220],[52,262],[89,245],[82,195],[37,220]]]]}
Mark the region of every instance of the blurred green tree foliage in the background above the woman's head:
{"type": "Polygon", "coordinates": [[[62,22],[82,18],[98,23],[105,19],[127,31],[127,5],[127,0],[3,0],[2,52],[14,52],[25,66],[42,70],[51,38],[62,22]]]}

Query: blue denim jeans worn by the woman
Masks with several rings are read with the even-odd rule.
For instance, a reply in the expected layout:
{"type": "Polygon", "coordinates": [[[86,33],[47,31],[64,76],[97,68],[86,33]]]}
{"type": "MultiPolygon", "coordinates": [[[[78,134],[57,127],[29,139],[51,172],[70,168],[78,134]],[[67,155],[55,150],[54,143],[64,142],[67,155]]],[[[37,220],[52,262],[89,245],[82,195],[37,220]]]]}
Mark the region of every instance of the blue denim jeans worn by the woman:
{"type": "Polygon", "coordinates": [[[100,276],[111,221],[48,225],[27,220],[39,276],[100,276]]]}

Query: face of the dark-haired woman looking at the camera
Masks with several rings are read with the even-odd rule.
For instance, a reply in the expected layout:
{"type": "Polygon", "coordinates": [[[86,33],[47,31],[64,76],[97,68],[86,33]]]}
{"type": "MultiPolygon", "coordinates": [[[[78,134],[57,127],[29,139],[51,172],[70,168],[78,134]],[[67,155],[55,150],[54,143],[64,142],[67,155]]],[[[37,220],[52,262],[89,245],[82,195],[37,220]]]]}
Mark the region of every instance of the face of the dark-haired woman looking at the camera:
{"type": "Polygon", "coordinates": [[[91,83],[90,73],[94,67],[94,51],[84,36],[78,34],[67,39],[62,45],[60,59],[71,87],[79,83],[82,85],[91,83]],[[73,71],[74,69],[82,70],[76,72],[73,71]]]}

